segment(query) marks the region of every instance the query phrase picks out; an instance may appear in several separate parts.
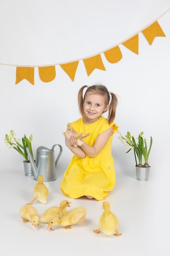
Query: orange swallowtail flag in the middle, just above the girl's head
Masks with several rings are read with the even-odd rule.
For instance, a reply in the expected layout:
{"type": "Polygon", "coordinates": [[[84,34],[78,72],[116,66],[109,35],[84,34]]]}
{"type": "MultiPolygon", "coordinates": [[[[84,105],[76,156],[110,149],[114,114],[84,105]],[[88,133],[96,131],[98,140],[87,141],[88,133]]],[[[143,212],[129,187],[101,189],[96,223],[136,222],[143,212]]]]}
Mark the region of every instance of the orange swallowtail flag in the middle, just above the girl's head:
{"type": "Polygon", "coordinates": [[[84,61],[84,65],[86,67],[86,71],[87,71],[88,76],[96,68],[99,69],[99,70],[106,70],[104,65],[103,65],[102,58],[101,58],[100,54],[96,55],[94,57],[91,57],[91,58],[85,58],[83,61],[84,61]]]}

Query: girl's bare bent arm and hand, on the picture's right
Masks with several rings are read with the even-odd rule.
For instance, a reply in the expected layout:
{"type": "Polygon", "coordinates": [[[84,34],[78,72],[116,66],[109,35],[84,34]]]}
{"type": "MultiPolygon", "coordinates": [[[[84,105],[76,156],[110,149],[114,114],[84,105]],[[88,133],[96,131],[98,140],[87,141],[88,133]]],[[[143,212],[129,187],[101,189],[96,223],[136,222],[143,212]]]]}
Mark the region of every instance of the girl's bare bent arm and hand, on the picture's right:
{"type": "MultiPolygon", "coordinates": [[[[101,134],[98,135],[98,137],[97,137],[97,139],[95,141],[95,144],[93,146],[89,146],[84,141],[83,145],[81,146],[81,149],[89,157],[95,157],[104,148],[104,146],[106,146],[109,137],[112,136],[112,135],[113,135],[113,127],[110,127],[108,130],[106,130],[105,132],[102,132],[101,134]]],[[[72,144],[72,145],[76,144],[76,139],[75,139],[74,135],[72,135],[70,137],[70,144],[72,144]]]]}

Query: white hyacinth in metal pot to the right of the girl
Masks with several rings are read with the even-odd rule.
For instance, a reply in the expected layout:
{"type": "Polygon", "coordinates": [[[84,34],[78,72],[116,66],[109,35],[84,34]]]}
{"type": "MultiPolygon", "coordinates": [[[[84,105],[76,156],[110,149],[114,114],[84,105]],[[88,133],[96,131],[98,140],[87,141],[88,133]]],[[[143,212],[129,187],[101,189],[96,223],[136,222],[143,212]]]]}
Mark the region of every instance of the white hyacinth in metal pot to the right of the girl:
{"type": "MultiPolygon", "coordinates": [[[[148,149],[146,139],[144,138],[144,132],[139,133],[137,141],[135,141],[135,138],[130,134],[130,132],[127,132],[127,134],[124,137],[121,135],[120,131],[118,131],[117,133],[119,134],[118,139],[121,141],[121,143],[130,148],[126,153],[130,152],[131,149],[134,150],[136,171],[144,173],[147,170],[147,172],[149,172],[150,165],[148,164],[148,158],[150,154],[150,149],[152,147],[152,137],[150,137],[150,146],[148,149]],[[145,160],[144,164],[142,164],[142,156],[144,157],[145,160]],[[139,163],[137,163],[137,158],[139,163]]],[[[148,180],[148,178],[142,175],[142,177],[137,178],[137,180],[148,180]]]]}

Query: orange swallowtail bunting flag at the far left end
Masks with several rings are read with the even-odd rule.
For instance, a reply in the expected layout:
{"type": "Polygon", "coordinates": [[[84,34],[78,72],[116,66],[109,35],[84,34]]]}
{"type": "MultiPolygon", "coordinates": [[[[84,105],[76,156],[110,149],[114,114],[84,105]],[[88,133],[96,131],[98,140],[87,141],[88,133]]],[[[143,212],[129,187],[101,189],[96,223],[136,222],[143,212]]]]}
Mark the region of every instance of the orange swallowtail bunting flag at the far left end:
{"type": "Polygon", "coordinates": [[[15,84],[20,83],[23,79],[28,80],[34,85],[34,67],[17,67],[15,84]]]}

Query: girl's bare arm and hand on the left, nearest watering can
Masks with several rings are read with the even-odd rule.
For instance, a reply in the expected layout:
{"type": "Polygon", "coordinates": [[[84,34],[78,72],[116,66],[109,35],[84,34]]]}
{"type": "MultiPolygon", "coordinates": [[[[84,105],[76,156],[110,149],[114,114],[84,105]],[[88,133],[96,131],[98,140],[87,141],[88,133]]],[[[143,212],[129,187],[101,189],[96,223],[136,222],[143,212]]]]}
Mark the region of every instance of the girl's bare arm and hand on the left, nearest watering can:
{"type": "Polygon", "coordinates": [[[71,131],[71,130],[68,130],[65,133],[66,146],[71,150],[73,154],[77,155],[78,157],[84,158],[86,157],[86,153],[79,146],[75,146],[77,143],[74,137],[75,133],[76,133],[75,131],[71,131]],[[73,137],[73,140],[71,139],[72,137],[73,137]]]}

